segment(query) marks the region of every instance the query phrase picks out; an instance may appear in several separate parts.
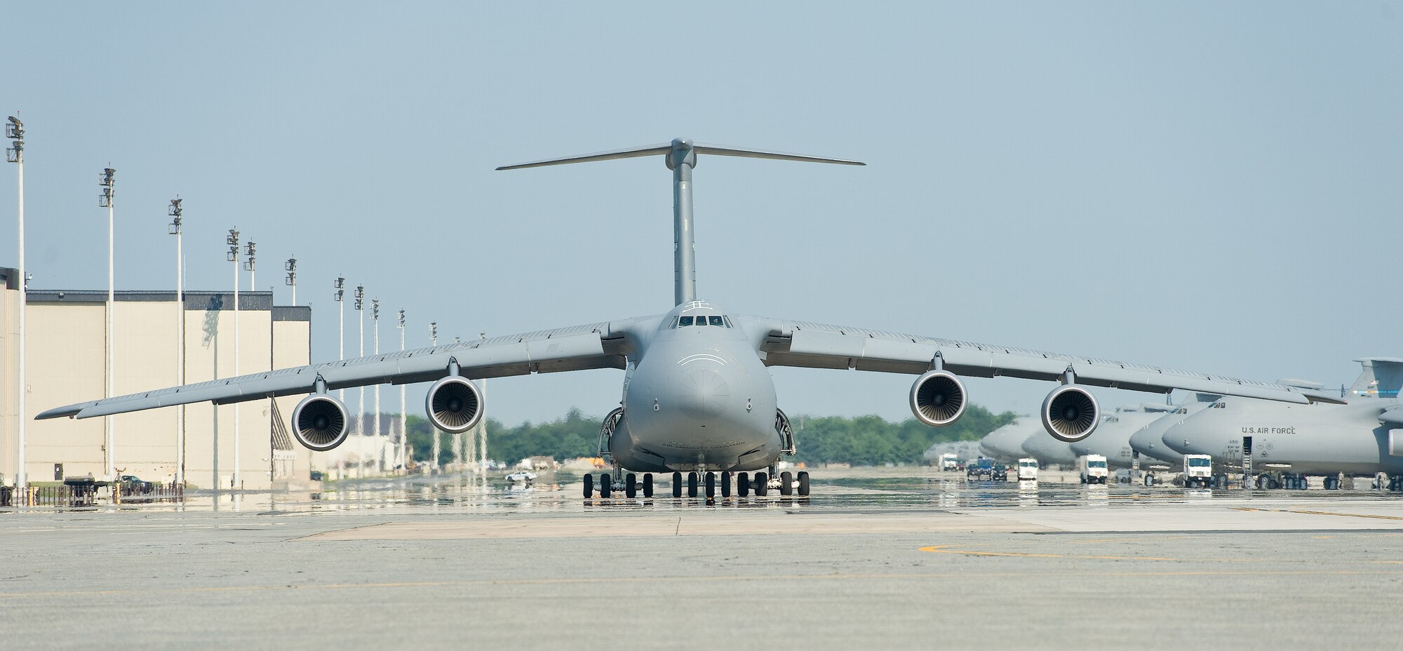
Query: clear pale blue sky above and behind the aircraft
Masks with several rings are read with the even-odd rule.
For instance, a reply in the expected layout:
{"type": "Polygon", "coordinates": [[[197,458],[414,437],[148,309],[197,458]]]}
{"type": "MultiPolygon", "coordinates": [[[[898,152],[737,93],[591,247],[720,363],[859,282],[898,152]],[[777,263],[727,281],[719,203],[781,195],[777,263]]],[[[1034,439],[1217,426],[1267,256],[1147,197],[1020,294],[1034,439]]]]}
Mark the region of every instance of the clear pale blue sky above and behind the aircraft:
{"type": "MultiPolygon", "coordinates": [[[[174,288],[178,194],[191,289],[230,285],[229,227],[283,303],[296,254],[316,361],[338,274],[405,309],[411,345],[431,320],[452,340],[665,311],[661,157],[492,168],[687,136],[868,164],[703,157],[699,293],[732,311],[1338,384],[1403,355],[1400,21],[1381,1],[21,3],[0,108],[28,128],[31,286],[105,286],[111,163],[118,289],[174,288]]],[[[790,414],[909,414],[912,377],[774,377],[790,414]]],[[[488,408],[603,414],[620,382],[494,380],[488,408]]],[[[1027,412],[1051,386],[971,389],[1027,412]]]]}

